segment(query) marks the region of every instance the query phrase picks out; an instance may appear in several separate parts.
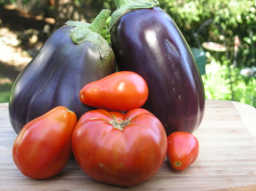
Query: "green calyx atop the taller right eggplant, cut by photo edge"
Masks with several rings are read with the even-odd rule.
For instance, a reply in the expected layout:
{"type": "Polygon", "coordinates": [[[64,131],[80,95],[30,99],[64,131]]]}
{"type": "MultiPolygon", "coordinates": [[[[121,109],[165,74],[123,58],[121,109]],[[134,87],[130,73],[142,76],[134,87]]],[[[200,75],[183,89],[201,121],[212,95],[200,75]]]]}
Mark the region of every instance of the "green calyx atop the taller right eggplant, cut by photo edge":
{"type": "Polygon", "coordinates": [[[117,6],[117,10],[115,10],[111,16],[112,18],[109,23],[109,31],[117,20],[130,10],[150,9],[158,6],[159,2],[157,0],[115,0],[115,5],[117,6]]]}

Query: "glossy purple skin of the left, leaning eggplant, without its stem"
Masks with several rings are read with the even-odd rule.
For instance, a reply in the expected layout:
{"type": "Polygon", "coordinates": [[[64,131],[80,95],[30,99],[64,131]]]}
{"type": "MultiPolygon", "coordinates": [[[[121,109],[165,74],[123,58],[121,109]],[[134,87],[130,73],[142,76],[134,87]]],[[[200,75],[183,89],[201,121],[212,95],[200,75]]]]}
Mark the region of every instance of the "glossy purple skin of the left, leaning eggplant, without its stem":
{"type": "Polygon", "coordinates": [[[74,44],[73,27],[57,29],[15,80],[9,101],[9,117],[16,133],[28,122],[63,105],[77,118],[94,108],[79,100],[85,84],[115,72],[113,51],[102,59],[95,44],[74,44]]]}

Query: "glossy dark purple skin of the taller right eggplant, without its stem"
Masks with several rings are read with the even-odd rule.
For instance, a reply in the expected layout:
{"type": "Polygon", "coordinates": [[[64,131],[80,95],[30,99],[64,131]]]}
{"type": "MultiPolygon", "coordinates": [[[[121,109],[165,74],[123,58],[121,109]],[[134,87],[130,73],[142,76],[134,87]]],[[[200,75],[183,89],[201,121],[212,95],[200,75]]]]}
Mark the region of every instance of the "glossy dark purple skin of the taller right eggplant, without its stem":
{"type": "Polygon", "coordinates": [[[163,123],[167,135],[192,133],[205,108],[196,62],[175,22],[159,7],[122,15],[110,31],[119,70],[134,71],[148,85],[143,108],[163,123]]]}

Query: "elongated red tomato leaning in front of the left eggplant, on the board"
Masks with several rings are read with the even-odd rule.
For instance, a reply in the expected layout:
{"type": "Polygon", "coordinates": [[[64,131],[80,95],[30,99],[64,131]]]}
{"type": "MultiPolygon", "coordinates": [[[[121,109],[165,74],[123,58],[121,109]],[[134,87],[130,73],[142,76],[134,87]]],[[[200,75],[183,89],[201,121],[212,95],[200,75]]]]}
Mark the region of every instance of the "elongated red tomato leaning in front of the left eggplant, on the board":
{"type": "Polygon", "coordinates": [[[59,173],[72,154],[71,136],[76,121],[74,112],[59,106],[24,125],[13,146],[18,169],[34,179],[59,173]]]}

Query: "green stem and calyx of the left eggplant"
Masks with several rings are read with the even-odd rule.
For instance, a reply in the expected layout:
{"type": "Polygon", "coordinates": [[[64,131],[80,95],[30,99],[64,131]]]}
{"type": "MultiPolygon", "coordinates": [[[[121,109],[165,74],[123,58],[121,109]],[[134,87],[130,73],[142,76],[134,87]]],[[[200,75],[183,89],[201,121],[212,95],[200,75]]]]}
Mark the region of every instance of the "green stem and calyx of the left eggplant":
{"type": "Polygon", "coordinates": [[[98,47],[101,58],[107,58],[110,52],[112,52],[112,49],[108,41],[101,36],[101,31],[105,27],[110,12],[110,10],[102,10],[90,24],[80,21],[73,22],[71,20],[66,22],[65,24],[74,27],[71,30],[70,36],[73,43],[80,44],[85,41],[90,41],[98,47]]]}

